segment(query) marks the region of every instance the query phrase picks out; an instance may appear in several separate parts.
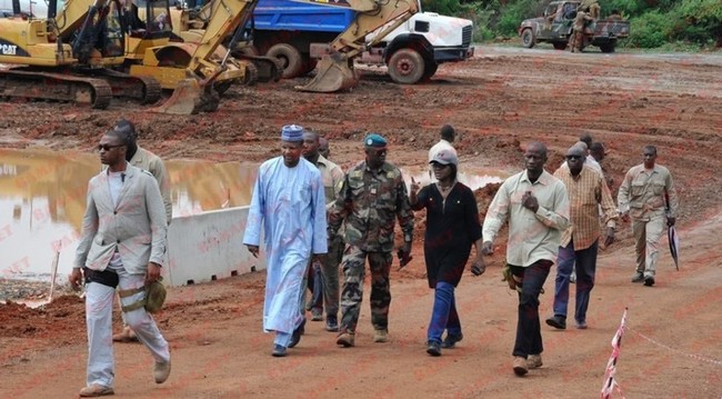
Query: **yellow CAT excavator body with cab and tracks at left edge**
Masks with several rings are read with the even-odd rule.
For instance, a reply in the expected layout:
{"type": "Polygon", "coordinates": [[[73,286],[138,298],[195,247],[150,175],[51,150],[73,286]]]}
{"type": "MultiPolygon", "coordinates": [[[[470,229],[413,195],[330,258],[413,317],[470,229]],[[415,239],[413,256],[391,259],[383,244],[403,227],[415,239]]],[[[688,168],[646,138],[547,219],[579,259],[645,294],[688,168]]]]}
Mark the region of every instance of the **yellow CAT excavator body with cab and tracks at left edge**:
{"type": "MultiPolygon", "coordinates": [[[[118,0],[92,4],[69,0],[57,12],[51,0],[47,19],[20,13],[0,19],[0,97],[90,104],[104,109],[111,97],[143,103],[158,101],[159,82],[132,77],[113,68],[124,60],[122,22],[118,0]]],[[[172,34],[170,31],[166,40],[172,34]]]]}

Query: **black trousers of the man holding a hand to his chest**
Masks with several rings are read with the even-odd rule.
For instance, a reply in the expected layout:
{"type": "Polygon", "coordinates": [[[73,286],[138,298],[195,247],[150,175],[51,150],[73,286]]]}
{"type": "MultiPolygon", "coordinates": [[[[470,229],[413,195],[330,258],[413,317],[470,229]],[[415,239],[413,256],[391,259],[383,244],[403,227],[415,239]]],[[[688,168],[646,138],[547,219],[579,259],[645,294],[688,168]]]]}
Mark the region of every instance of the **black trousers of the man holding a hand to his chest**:
{"type": "Polygon", "coordinates": [[[551,260],[545,259],[538,260],[525,268],[510,265],[511,272],[522,278],[513,356],[525,359],[528,355],[540,355],[544,351],[539,323],[539,293],[552,265],[551,260]]]}

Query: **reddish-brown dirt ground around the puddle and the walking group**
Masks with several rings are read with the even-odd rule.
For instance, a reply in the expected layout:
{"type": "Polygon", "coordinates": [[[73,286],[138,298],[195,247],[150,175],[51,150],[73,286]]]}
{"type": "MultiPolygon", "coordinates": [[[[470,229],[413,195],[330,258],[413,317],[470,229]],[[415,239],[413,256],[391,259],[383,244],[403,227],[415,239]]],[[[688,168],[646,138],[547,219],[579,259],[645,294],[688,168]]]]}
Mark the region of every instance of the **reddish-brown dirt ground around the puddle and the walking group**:
{"type": "MultiPolygon", "coordinates": [[[[329,137],[332,158],[342,164],[361,159],[367,131],[380,131],[392,143],[389,159],[414,167],[439,128],[452,123],[462,134],[463,168],[511,172],[521,169],[520,146],[530,140],[550,147],[553,171],[588,131],[611,149],[603,163],[618,187],[626,169],[641,162],[642,147],[655,144],[681,194],[681,270],[674,271],[664,250],[658,283],[632,285],[630,226],[622,225],[620,241],[600,255],[590,328],[543,326],[544,366],[523,379],[511,371],[517,300],[500,281],[503,242],[488,258],[487,273],[464,276],[458,289],[464,340],[440,358],[425,353],[432,292],[418,232],[414,261],[392,273],[390,342],[371,341],[364,305],[355,348],[338,348],[322,323],[309,322],[288,358],[272,358],[272,337],[261,331],[262,272],[183,287],[171,291],[158,317],[173,353],[170,380],[156,386],[147,351],[118,345],[117,397],[594,398],[628,308],[616,373],[626,398],[720,398],[720,60],[480,48],[471,61],[440,68],[428,84],[395,86],[373,74],[350,93],[318,96],[294,92],[300,80],[282,81],[231,89],[223,109],[210,116],[159,116],[131,103],[102,112],[0,103],[0,146],[90,150],[122,116],[137,122],[144,147],[167,159],[260,161],[277,153],[280,126],[295,122],[329,137]]],[[[485,210],[489,194],[478,197],[485,210]]],[[[553,273],[545,288],[544,318],[553,273]]],[[[74,396],[84,383],[84,335],[79,299],[63,297],[44,310],[0,306],[0,397],[74,396]]]]}

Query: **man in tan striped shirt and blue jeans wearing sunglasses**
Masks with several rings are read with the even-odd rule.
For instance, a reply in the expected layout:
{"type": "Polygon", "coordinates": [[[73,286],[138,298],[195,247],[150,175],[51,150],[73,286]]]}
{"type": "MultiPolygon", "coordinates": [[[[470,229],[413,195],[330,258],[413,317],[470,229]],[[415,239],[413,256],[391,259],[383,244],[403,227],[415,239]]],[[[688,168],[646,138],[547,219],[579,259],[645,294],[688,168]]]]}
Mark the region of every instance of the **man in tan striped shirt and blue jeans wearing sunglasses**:
{"type": "Polygon", "coordinates": [[[563,232],[556,261],[554,316],[546,323],[556,329],[566,328],[569,279],[576,269],[576,328],[586,328],[586,308],[594,287],[596,251],[599,249],[600,206],[606,235],[604,246],[614,241],[618,212],[604,177],[584,162],[584,150],[573,146],[566,151],[569,168],[559,168],[554,177],[564,182],[569,194],[570,227],[563,232]]]}

